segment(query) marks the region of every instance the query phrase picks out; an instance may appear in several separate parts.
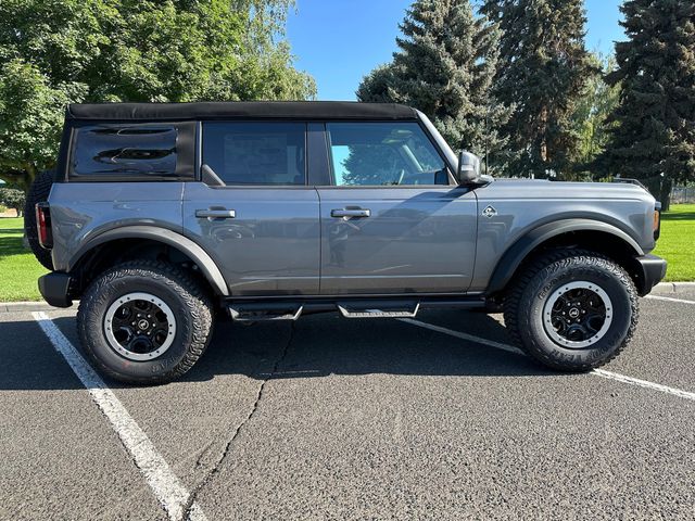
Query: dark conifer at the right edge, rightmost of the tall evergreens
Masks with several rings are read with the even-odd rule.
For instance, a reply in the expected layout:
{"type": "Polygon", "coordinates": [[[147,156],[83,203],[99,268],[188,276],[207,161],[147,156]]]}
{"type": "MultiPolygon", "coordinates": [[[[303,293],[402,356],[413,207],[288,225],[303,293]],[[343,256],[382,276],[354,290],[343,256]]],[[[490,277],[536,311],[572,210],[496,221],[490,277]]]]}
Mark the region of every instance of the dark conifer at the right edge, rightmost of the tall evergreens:
{"type": "Polygon", "coordinates": [[[668,204],[673,181],[695,180],[695,3],[629,0],[621,11],[629,40],[616,45],[607,77],[622,92],[606,156],[668,204]]]}

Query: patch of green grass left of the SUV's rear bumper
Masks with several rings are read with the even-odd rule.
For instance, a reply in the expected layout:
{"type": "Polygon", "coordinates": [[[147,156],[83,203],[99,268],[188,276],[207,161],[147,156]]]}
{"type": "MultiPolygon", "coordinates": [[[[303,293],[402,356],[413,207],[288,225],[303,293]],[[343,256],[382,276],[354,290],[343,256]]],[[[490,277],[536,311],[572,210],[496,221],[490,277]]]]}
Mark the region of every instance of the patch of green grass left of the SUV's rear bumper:
{"type": "Polygon", "coordinates": [[[24,219],[0,218],[0,302],[40,301],[36,280],[48,270],[22,244],[24,219]]]}

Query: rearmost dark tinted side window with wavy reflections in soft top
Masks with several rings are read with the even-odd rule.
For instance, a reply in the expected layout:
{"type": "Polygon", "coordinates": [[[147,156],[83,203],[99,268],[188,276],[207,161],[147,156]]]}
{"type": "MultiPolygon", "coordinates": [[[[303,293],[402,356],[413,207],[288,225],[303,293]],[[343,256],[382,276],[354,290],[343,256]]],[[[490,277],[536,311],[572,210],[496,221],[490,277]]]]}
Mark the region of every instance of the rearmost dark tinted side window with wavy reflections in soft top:
{"type": "Polygon", "coordinates": [[[177,128],[170,125],[79,127],[71,177],[174,177],[177,137],[177,128]]]}

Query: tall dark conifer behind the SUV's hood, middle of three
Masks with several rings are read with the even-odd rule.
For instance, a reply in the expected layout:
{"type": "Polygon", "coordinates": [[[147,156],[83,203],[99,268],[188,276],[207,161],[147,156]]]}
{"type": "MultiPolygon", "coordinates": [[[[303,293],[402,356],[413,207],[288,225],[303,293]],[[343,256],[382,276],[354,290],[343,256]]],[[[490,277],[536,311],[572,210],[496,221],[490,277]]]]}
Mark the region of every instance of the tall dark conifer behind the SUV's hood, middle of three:
{"type": "Polygon", "coordinates": [[[597,74],[584,48],[582,1],[484,0],[481,12],[503,31],[495,93],[516,106],[505,126],[510,174],[570,175],[580,142],[571,116],[597,74]]]}

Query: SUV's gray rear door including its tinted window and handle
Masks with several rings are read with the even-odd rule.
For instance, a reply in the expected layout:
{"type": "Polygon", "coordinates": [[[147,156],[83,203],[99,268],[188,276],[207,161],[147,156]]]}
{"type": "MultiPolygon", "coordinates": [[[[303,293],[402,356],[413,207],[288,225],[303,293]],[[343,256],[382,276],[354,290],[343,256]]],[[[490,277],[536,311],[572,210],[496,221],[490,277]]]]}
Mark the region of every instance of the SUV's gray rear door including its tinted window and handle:
{"type": "Polygon", "coordinates": [[[203,122],[201,167],[186,183],[184,231],[217,263],[231,295],[317,294],[319,203],[306,183],[306,124],[203,122]]]}

